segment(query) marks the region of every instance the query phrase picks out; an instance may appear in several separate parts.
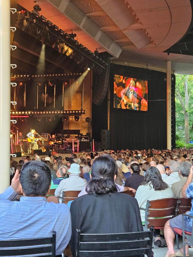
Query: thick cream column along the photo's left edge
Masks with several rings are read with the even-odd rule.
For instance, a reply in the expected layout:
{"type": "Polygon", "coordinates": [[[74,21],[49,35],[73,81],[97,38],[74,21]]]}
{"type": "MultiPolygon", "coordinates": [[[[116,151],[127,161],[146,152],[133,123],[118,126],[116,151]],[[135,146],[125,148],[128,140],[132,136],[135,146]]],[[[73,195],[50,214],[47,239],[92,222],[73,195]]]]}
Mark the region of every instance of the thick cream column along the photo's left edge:
{"type": "Polygon", "coordinates": [[[0,193],[10,185],[10,1],[0,0],[0,193]]]}

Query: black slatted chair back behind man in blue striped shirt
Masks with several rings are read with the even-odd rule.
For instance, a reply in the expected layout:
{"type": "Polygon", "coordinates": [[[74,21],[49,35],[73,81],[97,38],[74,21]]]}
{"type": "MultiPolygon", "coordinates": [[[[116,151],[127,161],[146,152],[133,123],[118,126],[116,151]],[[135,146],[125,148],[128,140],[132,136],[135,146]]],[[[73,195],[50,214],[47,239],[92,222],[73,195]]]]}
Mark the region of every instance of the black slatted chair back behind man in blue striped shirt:
{"type": "Polygon", "coordinates": [[[0,241],[0,256],[56,256],[56,232],[52,237],[0,241]],[[6,249],[5,249],[6,248],[6,249]]]}

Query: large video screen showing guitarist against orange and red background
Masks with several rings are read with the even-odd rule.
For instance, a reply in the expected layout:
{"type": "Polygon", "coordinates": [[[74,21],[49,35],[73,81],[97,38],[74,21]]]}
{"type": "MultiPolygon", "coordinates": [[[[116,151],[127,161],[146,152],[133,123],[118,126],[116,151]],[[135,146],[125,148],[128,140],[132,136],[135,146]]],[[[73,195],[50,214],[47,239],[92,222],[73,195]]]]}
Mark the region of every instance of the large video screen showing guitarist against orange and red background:
{"type": "Polygon", "coordinates": [[[147,111],[147,80],[114,75],[114,108],[147,111]]]}

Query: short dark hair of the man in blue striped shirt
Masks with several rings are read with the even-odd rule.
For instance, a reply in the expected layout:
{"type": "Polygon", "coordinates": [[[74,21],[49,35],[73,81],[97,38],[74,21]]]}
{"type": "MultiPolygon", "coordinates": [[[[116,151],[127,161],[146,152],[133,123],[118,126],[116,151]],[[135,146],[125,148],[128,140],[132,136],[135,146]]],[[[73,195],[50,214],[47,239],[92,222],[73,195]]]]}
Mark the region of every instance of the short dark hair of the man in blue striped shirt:
{"type": "Polygon", "coordinates": [[[26,196],[45,196],[51,183],[51,171],[43,162],[26,162],[20,173],[20,183],[26,196]]]}

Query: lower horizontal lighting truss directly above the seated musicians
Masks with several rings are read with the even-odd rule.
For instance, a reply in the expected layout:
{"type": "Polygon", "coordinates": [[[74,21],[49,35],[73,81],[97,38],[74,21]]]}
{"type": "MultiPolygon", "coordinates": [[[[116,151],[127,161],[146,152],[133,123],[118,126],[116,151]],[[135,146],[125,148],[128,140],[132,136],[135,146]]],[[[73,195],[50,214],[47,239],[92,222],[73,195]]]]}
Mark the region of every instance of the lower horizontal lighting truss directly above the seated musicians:
{"type": "Polygon", "coordinates": [[[81,116],[82,114],[85,114],[85,110],[11,111],[10,114],[11,114],[11,117],[14,116],[18,118],[20,118],[21,116],[24,117],[24,115],[34,116],[34,117],[40,117],[40,116],[52,117],[55,115],[59,115],[60,117],[63,117],[63,116],[81,116]]]}

